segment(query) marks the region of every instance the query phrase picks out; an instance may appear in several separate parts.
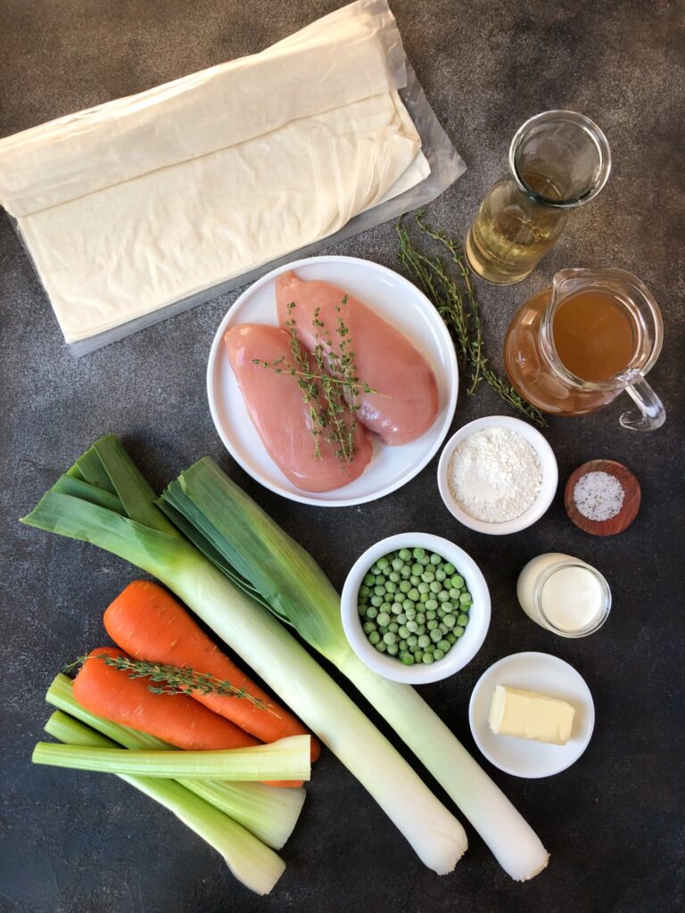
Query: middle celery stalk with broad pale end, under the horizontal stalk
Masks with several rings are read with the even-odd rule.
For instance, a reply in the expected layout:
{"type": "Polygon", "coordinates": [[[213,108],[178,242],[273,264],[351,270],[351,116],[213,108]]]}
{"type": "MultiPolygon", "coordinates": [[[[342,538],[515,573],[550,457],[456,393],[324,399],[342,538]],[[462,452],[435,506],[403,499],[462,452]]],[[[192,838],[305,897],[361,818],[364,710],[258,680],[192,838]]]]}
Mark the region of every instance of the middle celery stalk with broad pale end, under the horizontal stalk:
{"type": "MultiPolygon", "coordinates": [[[[90,729],[96,729],[124,748],[174,750],[173,745],[161,739],[90,713],[90,710],[81,707],[73,692],[71,679],[60,674],[47,689],[47,703],[64,710],[70,717],[86,723],[90,729]]],[[[265,783],[184,780],[182,777],[178,782],[277,850],[292,834],[306,795],[303,789],[267,786],[265,783]]]]}

